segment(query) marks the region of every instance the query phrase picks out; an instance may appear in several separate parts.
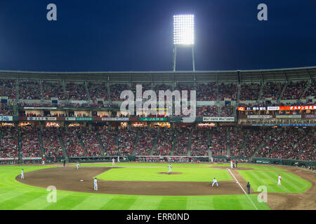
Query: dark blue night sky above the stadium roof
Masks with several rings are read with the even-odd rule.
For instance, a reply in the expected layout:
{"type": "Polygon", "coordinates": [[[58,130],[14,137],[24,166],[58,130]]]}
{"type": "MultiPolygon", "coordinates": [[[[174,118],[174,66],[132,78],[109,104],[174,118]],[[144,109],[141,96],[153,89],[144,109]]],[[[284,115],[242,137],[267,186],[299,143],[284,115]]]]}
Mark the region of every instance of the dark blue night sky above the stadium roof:
{"type": "Polygon", "coordinates": [[[195,14],[198,71],[316,66],[315,0],[0,0],[0,70],[171,71],[178,13],[195,14]]]}

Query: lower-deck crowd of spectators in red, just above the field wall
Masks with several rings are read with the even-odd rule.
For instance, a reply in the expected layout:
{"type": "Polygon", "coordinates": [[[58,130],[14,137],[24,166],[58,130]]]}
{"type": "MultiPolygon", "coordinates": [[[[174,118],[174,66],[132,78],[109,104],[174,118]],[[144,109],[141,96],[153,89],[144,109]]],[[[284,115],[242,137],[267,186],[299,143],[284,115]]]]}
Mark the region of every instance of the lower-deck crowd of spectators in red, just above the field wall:
{"type": "Polygon", "coordinates": [[[101,127],[98,130],[88,130],[83,127],[69,127],[66,131],[65,128],[46,127],[40,131],[35,127],[1,127],[0,137],[0,158],[18,158],[19,155],[23,158],[40,158],[42,153],[39,137],[42,137],[44,155],[53,158],[64,155],[62,144],[69,157],[132,155],[134,147],[136,155],[150,155],[151,152],[153,155],[171,155],[173,149],[173,155],[185,156],[191,141],[192,156],[208,156],[209,149],[213,157],[226,156],[229,145],[231,157],[316,159],[315,131],[312,128],[111,130],[101,127]]]}

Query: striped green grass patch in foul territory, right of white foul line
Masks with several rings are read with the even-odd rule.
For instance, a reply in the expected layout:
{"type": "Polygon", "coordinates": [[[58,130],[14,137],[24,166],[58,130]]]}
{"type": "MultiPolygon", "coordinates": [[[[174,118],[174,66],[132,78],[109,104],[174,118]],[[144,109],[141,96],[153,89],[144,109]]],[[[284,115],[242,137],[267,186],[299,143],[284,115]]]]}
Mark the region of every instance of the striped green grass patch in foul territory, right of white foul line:
{"type": "Polygon", "coordinates": [[[243,179],[251,183],[256,191],[258,186],[266,186],[268,193],[303,193],[312,183],[289,172],[267,172],[258,170],[239,170],[243,179]],[[281,186],[277,186],[277,178],[281,175],[281,186]]]}

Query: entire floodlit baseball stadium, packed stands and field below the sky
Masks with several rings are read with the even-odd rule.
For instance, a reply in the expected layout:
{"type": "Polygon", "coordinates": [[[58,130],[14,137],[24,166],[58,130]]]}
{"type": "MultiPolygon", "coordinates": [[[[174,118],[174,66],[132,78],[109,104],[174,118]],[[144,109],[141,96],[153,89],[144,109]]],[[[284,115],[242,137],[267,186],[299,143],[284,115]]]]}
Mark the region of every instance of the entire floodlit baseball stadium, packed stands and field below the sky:
{"type": "Polygon", "coordinates": [[[0,209],[315,209],[316,67],[0,76],[0,209]],[[195,90],[195,122],[121,113],[136,85],[195,90]]]}

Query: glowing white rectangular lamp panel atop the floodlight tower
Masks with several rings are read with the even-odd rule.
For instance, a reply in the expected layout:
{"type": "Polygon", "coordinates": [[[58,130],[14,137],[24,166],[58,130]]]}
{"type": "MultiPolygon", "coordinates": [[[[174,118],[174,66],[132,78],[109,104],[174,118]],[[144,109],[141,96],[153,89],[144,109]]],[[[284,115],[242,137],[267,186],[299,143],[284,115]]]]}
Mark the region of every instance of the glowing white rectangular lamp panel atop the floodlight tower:
{"type": "Polygon", "coordinates": [[[195,15],[173,15],[173,44],[195,44],[195,15]]]}

